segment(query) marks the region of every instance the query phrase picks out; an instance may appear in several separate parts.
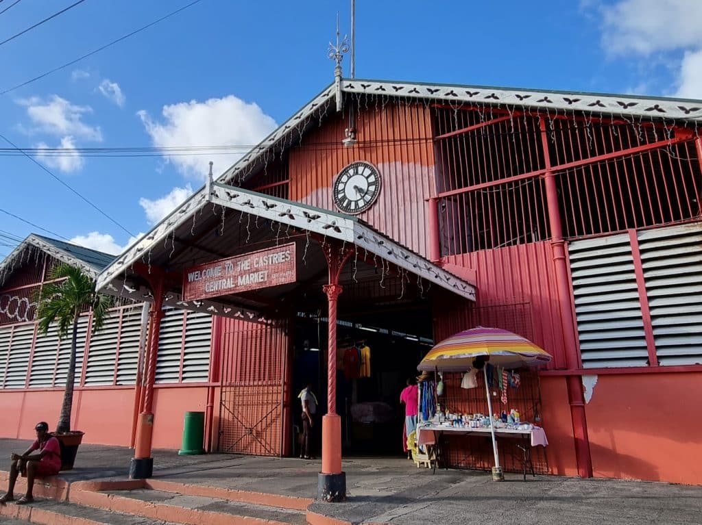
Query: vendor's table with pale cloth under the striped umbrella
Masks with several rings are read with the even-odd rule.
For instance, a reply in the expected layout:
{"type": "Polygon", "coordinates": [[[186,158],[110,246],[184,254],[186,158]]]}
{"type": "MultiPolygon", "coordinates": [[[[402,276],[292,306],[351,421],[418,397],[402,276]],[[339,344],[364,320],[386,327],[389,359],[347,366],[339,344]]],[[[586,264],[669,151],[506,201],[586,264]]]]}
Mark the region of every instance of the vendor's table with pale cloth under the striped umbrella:
{"type": "MultiPolygon", "coordinates": [[[[470,428],[470,427],[451,427],[448,425],[418,425],[417,427],[417,444],[418,445],[436,445],[437,446],[437,463],[444,461],[444,467],[448,468],[448,457],[445,454],[445,440],[447,435],[484,435],[490,437],[489,428],[470,428]]],[[[512,428],[496,428],[495,437],[508,437],[519,439],[521,443],[517,443],[518,449],[522,450],[522,470],[524,481],[527,481],[527,465],[531,470],[531,475],[534,474],[534,465],[531,464],[531,447],[532,446],[547,446],[548,439],[543,428],[535,427],[530,430],[519,430],[512,428]]],[[[434,465],[436,470],[436,463],[434,465]]]]}

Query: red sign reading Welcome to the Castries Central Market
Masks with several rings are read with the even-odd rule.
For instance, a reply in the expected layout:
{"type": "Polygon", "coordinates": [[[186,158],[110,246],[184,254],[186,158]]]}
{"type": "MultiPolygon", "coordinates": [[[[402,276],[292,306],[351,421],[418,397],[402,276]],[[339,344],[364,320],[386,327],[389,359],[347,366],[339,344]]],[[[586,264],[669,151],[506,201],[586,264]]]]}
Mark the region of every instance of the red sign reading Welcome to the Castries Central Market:
{"type": "Polygon", "coordinates": [[[208,299],[295,282],[295,261],[295,243],[289,243],[194,266],[183,276],[183,300],[208,299]]]}

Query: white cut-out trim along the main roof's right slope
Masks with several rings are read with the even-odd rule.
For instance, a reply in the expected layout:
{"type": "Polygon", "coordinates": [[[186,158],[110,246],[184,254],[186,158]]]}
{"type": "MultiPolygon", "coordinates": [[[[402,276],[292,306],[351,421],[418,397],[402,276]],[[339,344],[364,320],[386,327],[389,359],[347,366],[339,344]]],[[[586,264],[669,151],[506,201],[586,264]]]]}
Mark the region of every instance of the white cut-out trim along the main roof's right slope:
{"type": "Polygon", "coordinates": [[[585,111],[613,116],[647,118],[684,118],[702,121],[702,100],[636,97],[632,95],[600,95],[548,90],[491,88],[486,86],[446,86],[443,84],[406,83],[345,79],[345,93],[464,102],[469,104],[506,105],[531,109],[585,111]]]}

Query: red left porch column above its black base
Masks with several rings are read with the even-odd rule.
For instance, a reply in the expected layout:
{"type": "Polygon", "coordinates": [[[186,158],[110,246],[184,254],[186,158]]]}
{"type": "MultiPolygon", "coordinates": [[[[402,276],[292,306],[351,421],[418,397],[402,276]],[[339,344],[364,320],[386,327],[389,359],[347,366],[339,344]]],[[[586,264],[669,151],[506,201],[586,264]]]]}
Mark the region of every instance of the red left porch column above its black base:
{"type": "Polygon", "coordinates": [[[161,319],[164,318],[164,278],[159,276],[154,279],[154,302],[149,312],[149,348],[146,358],[146,378],[143,388],[144,407],[139,414],[139,425],[137,428],[136,448],[134,457],[145,459],[151,457],[151,441],[154,431],[154,382],[156,379],[156,362],[159,355],[159,332],[161,331],[161,319]]]}

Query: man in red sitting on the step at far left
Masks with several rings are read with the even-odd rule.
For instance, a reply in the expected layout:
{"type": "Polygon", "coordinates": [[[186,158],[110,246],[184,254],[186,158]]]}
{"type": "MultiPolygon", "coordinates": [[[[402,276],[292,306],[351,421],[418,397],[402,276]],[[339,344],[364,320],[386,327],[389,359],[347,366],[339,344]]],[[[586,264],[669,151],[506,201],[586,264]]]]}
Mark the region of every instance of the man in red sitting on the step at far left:
{"type": "Polygon", "coordinates": [[[24,505],[34,501],[32,496],[34,478],[55,476],[61,468],[61,447],[58,439],[48,433],[48,424],[41,421],[37,423],[34,430],[37,431],[37,441],[32,443],[32,446],[21,456],[14,453],[11,455],[10,482],[7,493],[0,498],[2,505],[15,500],[15,482],[20,473],[27,476],[27,493],[17,501],[17,504],[24,505]],[[32,454],[34,451],[38,451],[37,454],[32,454]]]}

